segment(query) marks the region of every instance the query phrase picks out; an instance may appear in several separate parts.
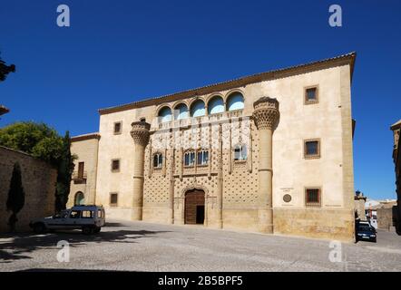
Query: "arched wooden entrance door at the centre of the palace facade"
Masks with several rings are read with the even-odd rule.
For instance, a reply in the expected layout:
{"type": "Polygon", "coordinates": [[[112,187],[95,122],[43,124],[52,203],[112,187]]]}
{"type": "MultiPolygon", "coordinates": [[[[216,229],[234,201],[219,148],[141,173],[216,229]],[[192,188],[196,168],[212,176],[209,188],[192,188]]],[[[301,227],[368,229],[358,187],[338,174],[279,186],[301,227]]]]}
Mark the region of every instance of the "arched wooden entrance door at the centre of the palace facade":
{"type": "Polygon", "coordinates": [[[205,219],[205,192],[191,189],[185,193],[185,224],[203,225],[205,219]]]}

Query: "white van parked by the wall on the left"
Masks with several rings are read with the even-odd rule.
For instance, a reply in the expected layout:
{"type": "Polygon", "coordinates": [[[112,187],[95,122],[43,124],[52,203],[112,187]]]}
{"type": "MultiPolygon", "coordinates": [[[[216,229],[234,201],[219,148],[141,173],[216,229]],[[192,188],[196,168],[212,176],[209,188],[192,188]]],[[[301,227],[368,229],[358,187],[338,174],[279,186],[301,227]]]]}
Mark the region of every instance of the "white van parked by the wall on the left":
{"type": "Polygon", "coordinates": [[[29,227],[35,233],[56,229],[82,229],[83,234],[96,234],[105,225],[105,214],[102,206],[74,206],[60,214],[47,218],[34,218],[29,227]]]}

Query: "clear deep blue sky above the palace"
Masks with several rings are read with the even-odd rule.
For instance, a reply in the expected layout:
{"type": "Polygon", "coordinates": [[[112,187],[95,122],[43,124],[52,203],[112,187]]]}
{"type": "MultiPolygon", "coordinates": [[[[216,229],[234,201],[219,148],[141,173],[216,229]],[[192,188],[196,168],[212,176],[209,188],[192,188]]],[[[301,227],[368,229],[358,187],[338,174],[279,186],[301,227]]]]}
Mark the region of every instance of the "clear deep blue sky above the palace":
{"type": "Polygon", "coordinates": [[[401,1],[2,1],[0,126],[44,121],[98,131],[97,109],[357,51],[352,85],[355,188],[395,198],[401,119],[401,1]],[[71,27],[56,25],[56,7],[71,27]],[[328,25],[328,6],[343,26],[328,25]]]}

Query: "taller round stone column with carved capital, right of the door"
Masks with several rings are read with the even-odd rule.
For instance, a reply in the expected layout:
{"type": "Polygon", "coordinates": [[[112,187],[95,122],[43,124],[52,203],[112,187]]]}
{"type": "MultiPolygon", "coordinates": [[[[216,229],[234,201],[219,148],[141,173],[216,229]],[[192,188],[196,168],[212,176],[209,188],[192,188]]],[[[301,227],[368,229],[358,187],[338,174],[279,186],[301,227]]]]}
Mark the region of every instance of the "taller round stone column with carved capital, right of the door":
{"type": "Polygon", "coordinates": [[[273,233],[272,137],[279,121],[279,102],[262,97],[253,107],[253,119],[259,131],[259,231],[273,233]]]}

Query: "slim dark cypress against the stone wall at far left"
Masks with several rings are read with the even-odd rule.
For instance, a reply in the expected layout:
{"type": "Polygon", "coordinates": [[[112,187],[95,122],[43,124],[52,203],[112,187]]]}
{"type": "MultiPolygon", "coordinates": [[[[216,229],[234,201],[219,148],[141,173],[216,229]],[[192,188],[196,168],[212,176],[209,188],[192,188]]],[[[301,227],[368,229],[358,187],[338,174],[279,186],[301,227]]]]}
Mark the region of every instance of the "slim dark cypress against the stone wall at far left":
{"type": "Polygon", "coordinates": [[[8,218],[8,226],[10,227],[10,232],[15,231],[15,224],[18,221],[16,215],[22,208],[24,208],[24,203],[25,192],[21,178],[21,167],[18,162],[15,162],[6,203],[7,210],[12,211],[10,218],[8,218]]]}

